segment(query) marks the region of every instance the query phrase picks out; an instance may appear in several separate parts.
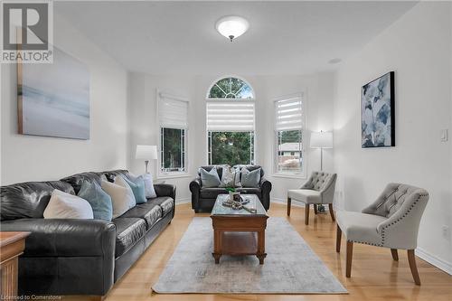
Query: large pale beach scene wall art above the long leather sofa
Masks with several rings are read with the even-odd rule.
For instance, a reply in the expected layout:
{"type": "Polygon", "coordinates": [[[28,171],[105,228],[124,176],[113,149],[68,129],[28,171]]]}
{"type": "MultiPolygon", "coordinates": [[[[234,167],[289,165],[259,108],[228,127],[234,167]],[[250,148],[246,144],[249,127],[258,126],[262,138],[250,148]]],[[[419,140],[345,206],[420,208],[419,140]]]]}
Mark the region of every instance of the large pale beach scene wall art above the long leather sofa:
{"type": "Polygon", "coordinates": [[[53,47],[53,63],[17,63],[19,134],[89,139],[89,70],[53,47]]]}

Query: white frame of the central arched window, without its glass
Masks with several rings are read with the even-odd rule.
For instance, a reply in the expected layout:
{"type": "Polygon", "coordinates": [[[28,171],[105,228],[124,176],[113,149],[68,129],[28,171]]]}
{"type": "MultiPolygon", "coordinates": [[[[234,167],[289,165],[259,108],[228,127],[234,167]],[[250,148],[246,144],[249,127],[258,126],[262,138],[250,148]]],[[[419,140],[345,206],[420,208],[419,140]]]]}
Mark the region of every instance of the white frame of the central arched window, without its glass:
{"type": "MultiPolygon", "coordinates": [[[[252,136],[252,141],[253,141],[253,147],[252,149],[250,149],[250,153],[252,153],[252,158],[251,158],[251,162],[253,165],[256,165],[256,94],[254,92],[254,89],[252,88],[252,86],[250,85],[250,82],[248,80],[243,79],[240,76],[236,76],[236,75],[227,75],[227,76],[222,76],[221,78],[218,78],[216,80],[213,80],[212,84],[209,86],[209,89],[207,89],[207,93],[205,96],[205,142],[206,142],[206,152],[205,152],[205,162],[206,165],[210,165],[212,162],[212,147],[211,147],[211,132],[233,132],[233,131],[210,131],[207,127],[207,103],[208,102],[212,102],[212,103],[218,103],[218,102],[252,102],[254,103],[254,120],[253,120],[253,124],[254,124],[254,128],[252,130],[253,136],[252,136]],[[209,95],[211,94],[211,89],[215,86],[215,84],[223,79],[229,79],[229,78],[236,78],[239,80],[242,80],[246,85],[248,85],[251,89],[252,95],[253,97],[250,99],[218,99],[218,98],[209,98],[209,95]]],[[[243,132],[250,132],[250,131],[243,131],[243,132]]]]}

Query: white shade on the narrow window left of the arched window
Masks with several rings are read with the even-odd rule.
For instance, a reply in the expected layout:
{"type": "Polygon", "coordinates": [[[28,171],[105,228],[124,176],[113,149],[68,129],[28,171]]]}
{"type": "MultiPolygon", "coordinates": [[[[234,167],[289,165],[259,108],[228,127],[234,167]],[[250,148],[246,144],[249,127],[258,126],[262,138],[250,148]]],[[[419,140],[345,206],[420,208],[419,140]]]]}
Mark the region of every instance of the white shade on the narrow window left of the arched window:
{"type": "Polygon", "coordinates": [[[164,93],[159,96],[160,127],[188,128],[188,101],[164,93]]]}

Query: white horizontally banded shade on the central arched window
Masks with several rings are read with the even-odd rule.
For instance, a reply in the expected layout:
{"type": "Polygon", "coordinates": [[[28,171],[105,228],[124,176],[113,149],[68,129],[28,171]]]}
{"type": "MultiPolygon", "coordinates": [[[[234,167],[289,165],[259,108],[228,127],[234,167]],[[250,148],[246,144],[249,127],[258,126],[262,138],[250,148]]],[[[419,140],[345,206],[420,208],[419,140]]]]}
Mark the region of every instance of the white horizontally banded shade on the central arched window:
{"type": "Polygon", "coordinates": [[[254,102],[238,100],[208,101],[207,130],[213,132],[254,131],[254,102]]]}

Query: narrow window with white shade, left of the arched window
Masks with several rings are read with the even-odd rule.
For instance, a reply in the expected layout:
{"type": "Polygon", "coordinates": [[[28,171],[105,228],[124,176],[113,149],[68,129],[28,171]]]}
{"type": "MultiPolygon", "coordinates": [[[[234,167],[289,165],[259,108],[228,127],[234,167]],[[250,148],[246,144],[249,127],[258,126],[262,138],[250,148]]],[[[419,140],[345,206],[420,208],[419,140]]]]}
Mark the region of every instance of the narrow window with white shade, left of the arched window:
{"type": "Polygon", "coordinates": [[[158,93],[160,174],[186,172],[188,100],[158,93]]]}

